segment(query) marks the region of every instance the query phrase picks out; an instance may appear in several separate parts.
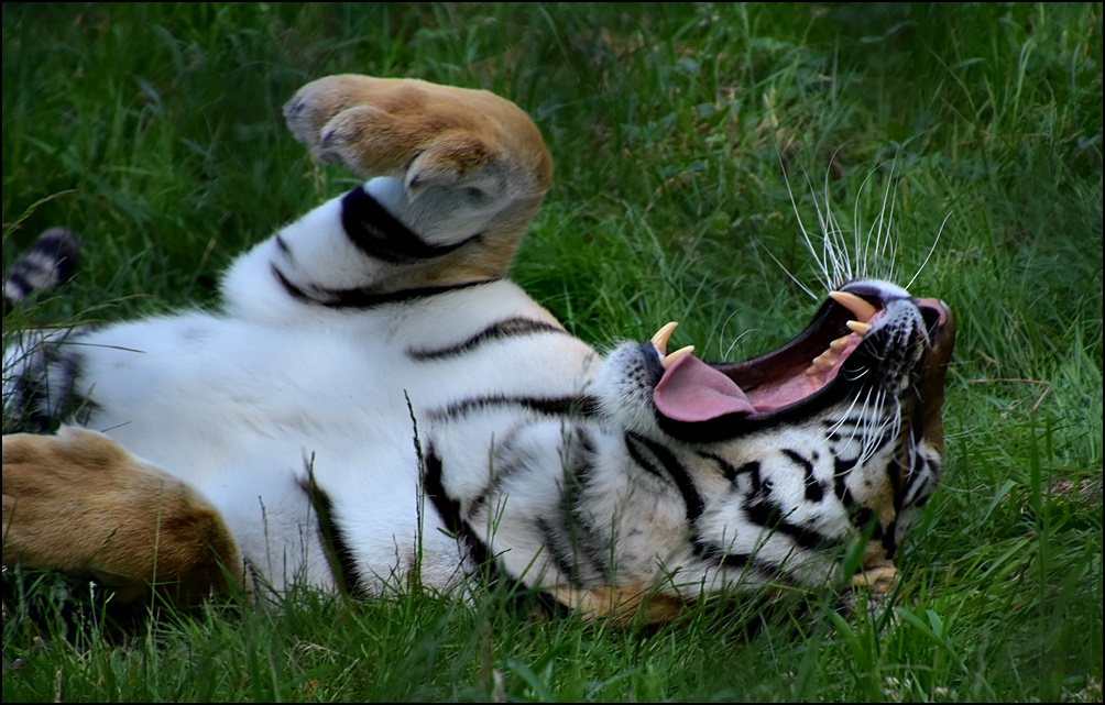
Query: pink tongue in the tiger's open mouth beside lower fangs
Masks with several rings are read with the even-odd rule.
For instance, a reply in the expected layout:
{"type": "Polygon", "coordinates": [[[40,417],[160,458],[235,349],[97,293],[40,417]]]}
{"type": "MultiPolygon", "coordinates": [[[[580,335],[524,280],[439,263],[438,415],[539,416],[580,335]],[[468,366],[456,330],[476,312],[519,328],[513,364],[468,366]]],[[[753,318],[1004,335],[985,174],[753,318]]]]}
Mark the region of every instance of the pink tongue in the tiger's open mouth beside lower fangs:
{"type": "Polygon", "coordinates": [[[693,355],[684,355],[664,371],[652,399],[660,413],[674,421],[756,411],[736,382],[693,355]]]}

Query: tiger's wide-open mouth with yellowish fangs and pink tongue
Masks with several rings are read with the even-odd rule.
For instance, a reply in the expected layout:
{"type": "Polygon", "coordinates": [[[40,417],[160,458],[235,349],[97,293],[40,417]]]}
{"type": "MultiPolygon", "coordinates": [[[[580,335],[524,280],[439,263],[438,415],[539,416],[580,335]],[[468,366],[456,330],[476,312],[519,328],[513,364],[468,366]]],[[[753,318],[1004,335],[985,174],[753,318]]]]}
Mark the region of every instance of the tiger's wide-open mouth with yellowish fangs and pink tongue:
{"type": "Polygon", "coordinates": [[[857,282],[832,292],[797,338],[744,362],[707,364],[691,355],[693,348],[667,354],[674,327],[664,326],[645,346],[651,345],[663,368],[653,391],[656,411],[676,423],[725,418],[755,424],[810,404],[830,403],[857,385],[871,383],[859,373],[862,368],[884,365],[891,358],[916,359],[904,371],[938,375],[928,383],[943,386],[944,365],[929,371],[933,366],[925,359],[935,357],[946,364],[954,338],[951,312],[943,302],[914,298],[882,282],[857,282]],[[923,323],[909,326],[917,335],[898,335],[894,318],[916,319],[917,315],[923,323]],[[932,350],[940,354],[930,356],[932,350]]]}

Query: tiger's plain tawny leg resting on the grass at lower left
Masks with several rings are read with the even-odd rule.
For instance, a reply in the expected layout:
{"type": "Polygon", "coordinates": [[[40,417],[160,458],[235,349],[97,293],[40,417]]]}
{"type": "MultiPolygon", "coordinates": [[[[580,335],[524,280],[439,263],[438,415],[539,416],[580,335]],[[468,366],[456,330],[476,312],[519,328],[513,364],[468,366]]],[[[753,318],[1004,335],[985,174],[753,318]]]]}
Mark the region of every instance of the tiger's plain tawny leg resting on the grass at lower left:
{"type": "Polygon", "coordinates": [[[123,601],[165,585],[190,600],[243,586],[219,513],[106,435],[3,436],[3,565],[87,576],[123,601]]]}

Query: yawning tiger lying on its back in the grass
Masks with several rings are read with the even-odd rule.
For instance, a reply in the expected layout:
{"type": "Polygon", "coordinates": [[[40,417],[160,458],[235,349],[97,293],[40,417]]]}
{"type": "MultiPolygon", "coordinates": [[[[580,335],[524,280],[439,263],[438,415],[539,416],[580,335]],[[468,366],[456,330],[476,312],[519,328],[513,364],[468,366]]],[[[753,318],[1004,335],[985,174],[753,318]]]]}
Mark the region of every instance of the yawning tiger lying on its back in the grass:
{"type": "MultiPolygon", "coordinates": [[[[9,332],[4,566],[182,601],[491,575],[613,623],[893,590],[941,474],[945,303],[860,277],[755,359],[669,351],[674,323],[600,354],[506,276],[552,173],[518,106],[339,74],[283,115],[364,180],[238,256],[220,307],[9,332]]],[[[63,280],[73,240],[6,301],[63,280]]]]}

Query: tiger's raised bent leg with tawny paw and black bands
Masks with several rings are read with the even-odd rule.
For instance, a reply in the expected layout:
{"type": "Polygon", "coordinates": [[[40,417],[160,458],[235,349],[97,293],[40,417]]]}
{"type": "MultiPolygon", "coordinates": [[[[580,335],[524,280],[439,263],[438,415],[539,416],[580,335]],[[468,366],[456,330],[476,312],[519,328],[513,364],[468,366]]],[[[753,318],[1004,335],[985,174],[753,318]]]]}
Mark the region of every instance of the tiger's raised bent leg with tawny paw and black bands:
{"type": "Polygon", "coordinates": [[[498,280],[552,173],[537,126],[486,91],[327,76],[284,117],[315,158],[368,181],[235,261],[222,283],[235,317],[287,325],[498,280]]]}

